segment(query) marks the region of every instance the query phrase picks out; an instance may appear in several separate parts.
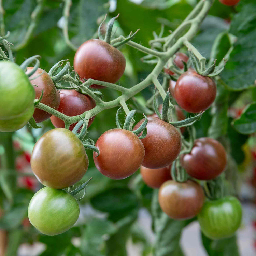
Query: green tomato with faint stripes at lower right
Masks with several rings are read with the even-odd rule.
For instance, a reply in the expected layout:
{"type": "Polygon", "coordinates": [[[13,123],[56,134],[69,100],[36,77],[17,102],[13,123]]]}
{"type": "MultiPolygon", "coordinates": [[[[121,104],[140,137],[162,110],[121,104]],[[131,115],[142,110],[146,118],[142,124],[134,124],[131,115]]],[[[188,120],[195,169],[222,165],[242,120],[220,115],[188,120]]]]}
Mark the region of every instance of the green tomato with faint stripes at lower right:
{"type": "Polygon", "coordinates": [[[205,236],[211,239],[227,238],[240,227],[242,206],[233,196],[206,201],[197,218],[205,236]]]}

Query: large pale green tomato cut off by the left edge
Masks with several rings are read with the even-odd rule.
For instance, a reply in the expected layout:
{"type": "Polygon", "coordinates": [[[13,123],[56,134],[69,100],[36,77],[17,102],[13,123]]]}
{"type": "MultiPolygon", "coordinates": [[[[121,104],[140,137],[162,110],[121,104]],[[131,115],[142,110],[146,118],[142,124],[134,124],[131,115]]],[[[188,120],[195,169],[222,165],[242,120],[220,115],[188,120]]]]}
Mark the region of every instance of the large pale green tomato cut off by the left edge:
{"type": "Polygon", "coordinates": [[[35,90],[25,72],[11,61],[0,61],[0,131],[17,131],[34,113],[35,90]]]}

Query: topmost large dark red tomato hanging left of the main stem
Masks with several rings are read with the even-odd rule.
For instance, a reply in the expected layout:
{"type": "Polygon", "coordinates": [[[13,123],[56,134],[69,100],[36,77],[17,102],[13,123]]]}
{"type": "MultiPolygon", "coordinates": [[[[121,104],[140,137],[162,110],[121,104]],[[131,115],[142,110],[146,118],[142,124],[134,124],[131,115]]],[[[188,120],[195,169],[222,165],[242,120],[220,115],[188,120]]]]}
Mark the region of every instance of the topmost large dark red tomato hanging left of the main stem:
{"type": "MultiPolygon", "coordinates": [[[[76,51],[74,69],[80,79],[116,83],[125,71],[124,55],[112,45],[98,39],[84,42],[76,51]]],[[[93,85],[94,88],[103,88],[93,85]]]]}

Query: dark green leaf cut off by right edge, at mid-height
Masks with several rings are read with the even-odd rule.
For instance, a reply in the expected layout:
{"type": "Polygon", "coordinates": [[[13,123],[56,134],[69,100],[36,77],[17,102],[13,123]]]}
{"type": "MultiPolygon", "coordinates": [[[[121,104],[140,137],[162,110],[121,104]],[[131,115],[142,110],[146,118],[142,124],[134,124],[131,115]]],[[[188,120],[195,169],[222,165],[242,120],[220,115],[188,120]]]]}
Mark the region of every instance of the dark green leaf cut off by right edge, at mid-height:
{"type": "Polygon", "coordinates": [[[233,127],[242,134],[256,132],[256,102],[248,105],[242,115],[232,122],[233,127]]]}

